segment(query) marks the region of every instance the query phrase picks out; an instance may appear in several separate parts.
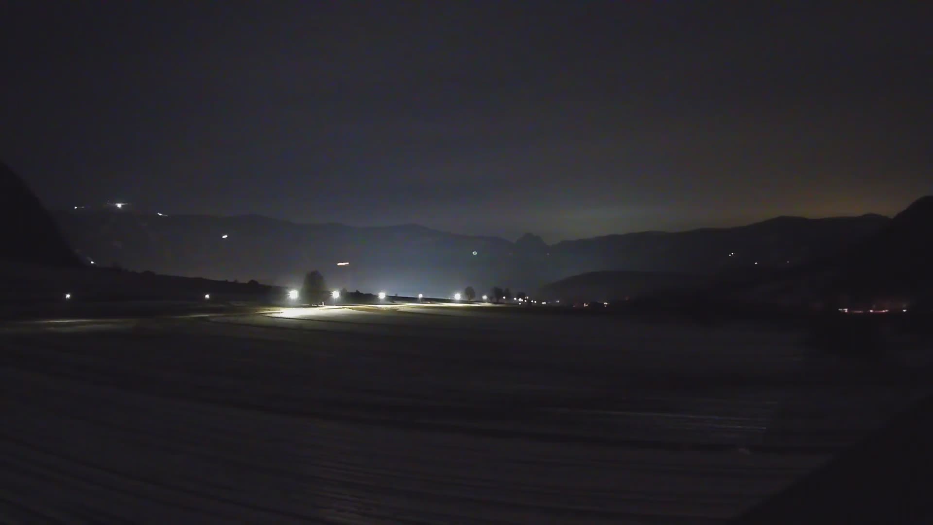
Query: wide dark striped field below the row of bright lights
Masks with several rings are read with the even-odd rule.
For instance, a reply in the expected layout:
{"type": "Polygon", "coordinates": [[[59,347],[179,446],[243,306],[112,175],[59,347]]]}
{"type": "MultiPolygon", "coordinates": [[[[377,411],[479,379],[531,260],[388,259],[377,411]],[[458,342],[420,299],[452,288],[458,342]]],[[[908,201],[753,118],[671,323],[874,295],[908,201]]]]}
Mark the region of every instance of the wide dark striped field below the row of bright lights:
{"type": "Polygon", "coordinates": [[[720,523],[927,393],[908,339],[805,339],[456,305],[10,323],[0,521],[720,523]]]}

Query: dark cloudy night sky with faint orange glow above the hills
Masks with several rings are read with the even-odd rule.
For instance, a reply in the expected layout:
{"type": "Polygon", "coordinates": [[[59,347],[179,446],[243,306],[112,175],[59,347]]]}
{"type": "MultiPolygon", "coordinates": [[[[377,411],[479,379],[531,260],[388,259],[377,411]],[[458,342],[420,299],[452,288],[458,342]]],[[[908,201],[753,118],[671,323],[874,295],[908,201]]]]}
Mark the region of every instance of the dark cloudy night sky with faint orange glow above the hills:
{"type": "Polygon", "coordinates": [[[550,242],[893,214],[930,12],[815,4],[7,0],[0,157],[49,206],[550,242]]]}

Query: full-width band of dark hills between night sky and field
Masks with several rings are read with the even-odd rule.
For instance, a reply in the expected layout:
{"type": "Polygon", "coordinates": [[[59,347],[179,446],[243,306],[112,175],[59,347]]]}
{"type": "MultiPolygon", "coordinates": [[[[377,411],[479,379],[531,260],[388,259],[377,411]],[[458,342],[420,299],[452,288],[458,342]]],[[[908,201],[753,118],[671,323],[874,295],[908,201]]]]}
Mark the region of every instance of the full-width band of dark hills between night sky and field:
{"type": "Polygon", "coordinates": [[[481,293],[497,285],[568,300],[671,290],[788,305],[914,305],[933,296],[930,196],[894,219],[778,217],[735,228],[548,245],[535,234],[510,242],[415,224],[359,228],[260,216],[169,217],[116,204],[61,210],[53,219],[3,164],[0,182],[7,214],[0,259],[14,264],[77,269],[93,261],[98,268],[286,286],[316,268],[334,287],[401,295],[446,296],[466,286],[481,293]]]}

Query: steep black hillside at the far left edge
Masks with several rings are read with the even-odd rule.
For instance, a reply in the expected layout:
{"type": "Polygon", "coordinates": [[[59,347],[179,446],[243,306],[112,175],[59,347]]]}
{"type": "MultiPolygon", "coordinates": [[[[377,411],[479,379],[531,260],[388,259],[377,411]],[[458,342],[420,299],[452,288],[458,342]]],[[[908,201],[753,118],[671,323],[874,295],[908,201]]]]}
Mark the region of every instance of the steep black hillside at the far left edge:
{"type": "Polygon", "coordinates": [[[26,183],[0,162],[0,259],[47,266],[82,265],[26,183]]]}

